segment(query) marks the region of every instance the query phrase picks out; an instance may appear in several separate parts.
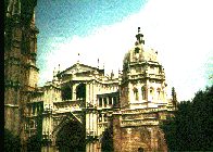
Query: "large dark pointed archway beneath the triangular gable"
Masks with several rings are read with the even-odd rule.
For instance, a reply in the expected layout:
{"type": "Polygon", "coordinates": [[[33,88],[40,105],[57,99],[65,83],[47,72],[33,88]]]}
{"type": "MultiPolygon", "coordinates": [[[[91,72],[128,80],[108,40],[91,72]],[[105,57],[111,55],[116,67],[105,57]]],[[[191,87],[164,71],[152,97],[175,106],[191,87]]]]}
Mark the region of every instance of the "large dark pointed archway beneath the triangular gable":
{"type": "Polygon", "coordinates": [[[57,134],[55,145],[60,152],[85,151],[85,128],[77,121],[67,121],[57,134]]]}

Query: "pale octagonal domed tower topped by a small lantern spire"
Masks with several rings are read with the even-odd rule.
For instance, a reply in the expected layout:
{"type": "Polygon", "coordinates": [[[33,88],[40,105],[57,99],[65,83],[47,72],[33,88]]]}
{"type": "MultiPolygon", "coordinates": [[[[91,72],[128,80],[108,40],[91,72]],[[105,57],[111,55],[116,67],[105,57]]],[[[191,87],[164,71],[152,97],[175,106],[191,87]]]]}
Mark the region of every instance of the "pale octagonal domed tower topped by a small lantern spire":
{"type": "Polygon", "coordinates": [[[143,35],[136,35],[135,47],[123,61],[121,106],[156,106],[166,103],[164,68],[158,61],[158,51],[145,46],[143,35]]]}

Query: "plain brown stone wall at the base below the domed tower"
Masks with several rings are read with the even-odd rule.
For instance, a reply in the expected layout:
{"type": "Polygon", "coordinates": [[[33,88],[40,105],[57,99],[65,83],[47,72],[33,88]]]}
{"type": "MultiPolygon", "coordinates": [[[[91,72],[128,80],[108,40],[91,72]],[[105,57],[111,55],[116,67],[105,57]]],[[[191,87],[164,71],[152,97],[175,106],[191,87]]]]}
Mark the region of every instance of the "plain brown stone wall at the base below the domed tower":
{"type": "Polygon", "coordinates": [[[121,127],[122,116],[113,115],[113,148],[115,152],[167,151],[164,135],[159,126],[121,127]]]}

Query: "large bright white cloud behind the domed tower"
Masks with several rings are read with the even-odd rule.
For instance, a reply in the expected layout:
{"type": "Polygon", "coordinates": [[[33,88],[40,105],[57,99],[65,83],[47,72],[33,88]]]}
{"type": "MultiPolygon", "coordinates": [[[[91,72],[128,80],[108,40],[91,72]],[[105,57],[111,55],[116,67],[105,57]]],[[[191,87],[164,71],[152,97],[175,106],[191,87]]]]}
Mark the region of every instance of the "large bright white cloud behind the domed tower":
{"type": "Polygon", "coordinates": [[[208,59],[213,54],[212,4],[208,0],[150,0],[137,14],[114,25],[93,28],[88,37],[55,38],[50,41],[55,50],[48,59],[46,78],[50,76],[51,79],[58,64],[61,64],[61,69],[75,64],[77,53],[80,63],[90,66],[97,66],[99,59],[102,68],[105,61],[106,73],[113,69],[117,77],[124,55],[134,47],[137,27],[140,26],[145,43],[159,51],[159,61],[165,68],[168,84],[168,98],[174,86],[178,100],[190,99],[206,85],[204,75],[209,69],[202,67],[210,63],[208,59]]]}

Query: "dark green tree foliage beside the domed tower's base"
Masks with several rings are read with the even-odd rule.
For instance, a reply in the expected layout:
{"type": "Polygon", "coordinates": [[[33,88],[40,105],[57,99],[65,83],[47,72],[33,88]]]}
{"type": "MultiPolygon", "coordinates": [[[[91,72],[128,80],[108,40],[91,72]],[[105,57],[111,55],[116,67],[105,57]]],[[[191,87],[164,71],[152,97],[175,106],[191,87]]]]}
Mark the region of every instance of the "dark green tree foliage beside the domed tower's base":
{"type": "Polygon", "coordinates": [[[199,90],[191,102],[177,105],[160,126],[171,151],[213,151],[213,86],[199,90]]]}

